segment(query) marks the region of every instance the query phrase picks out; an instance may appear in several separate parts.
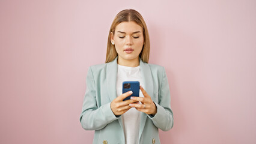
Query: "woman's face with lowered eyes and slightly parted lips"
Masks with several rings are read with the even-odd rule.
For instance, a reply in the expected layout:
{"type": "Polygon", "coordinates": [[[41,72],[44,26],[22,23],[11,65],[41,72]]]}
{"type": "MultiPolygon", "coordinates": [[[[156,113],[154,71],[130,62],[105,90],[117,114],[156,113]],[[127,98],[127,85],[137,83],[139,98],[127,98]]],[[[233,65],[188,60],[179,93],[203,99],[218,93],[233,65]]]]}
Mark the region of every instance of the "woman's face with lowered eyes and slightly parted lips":
{"type": "Polygon", "coordinates": [[[131,61],[139,59],[144,37],[141,26],[137,23],[121,22],[115,28],[115,34],[111,33],[111,43],[114,42],[118,53],[118,61],[131,61]]]}

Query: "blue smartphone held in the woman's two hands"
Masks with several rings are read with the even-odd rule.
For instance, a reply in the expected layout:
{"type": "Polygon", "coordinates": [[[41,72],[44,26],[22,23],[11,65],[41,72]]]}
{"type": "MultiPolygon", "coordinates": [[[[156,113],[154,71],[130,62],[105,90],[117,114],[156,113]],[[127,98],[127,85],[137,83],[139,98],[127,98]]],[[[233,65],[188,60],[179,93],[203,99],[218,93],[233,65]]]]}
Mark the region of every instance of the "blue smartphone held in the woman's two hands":
{"type": "Polygon", "coordinates": [[[139,82],[138,81],[126,81],[123,82],[123,94],[127,91],[132,91],[132,95],[124,98],[125,100],[130,100],[130,97],[139,97],[139,82]]]}

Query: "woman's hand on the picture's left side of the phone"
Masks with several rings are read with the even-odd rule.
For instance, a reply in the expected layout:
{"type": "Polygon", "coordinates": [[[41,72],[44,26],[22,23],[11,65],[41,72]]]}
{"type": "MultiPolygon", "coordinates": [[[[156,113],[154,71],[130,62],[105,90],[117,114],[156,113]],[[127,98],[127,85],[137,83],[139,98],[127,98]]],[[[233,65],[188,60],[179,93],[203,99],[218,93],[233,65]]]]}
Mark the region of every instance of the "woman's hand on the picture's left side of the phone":
{"type": "Polygon", "coordinates": [[[124,100],[124,98],[132,95],[132,91],[126,92],[124,94],[121,94],[119,97],[115,98],[113,101],[111,101],[110,107],[112,112],[115,116],[122,115],[123,113],[127,112],[130,107],[130,103],[135,103],[136,100],[124,100]]]}

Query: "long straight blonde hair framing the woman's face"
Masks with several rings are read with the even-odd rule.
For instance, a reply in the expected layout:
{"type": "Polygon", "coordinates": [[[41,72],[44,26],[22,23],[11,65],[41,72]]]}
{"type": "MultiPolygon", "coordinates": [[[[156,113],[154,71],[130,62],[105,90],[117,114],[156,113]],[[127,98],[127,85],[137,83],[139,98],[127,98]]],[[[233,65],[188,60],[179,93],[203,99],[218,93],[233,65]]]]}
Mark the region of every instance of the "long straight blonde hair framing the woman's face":
{"type": "Polygon", "coordinates": [[[113,35],[115,34],[115,28],[117,25],[119,25],[121,22],[136,22],[141,28],[143,29],[143,37],[144,37],[144,45],[142,47],[141,53],[139,53],[139,58],[143,62],[148,63],[149,55],[150,55],[150,40],[149,40],[149,35],[148,35],[148,29],[147,25],[138,11],[132,10],[132,9],[127,9],[127,10],[122,10],[120,11],[117,16],[115,16],[115,19],[112,22],[111,28],[109,30],[108,34],[108,47],[107,47],[107,52],[106,52],[106,63],[113,61],[118,53],[115,50],[115,46],[111,44],[111,32],[113,35]]]}

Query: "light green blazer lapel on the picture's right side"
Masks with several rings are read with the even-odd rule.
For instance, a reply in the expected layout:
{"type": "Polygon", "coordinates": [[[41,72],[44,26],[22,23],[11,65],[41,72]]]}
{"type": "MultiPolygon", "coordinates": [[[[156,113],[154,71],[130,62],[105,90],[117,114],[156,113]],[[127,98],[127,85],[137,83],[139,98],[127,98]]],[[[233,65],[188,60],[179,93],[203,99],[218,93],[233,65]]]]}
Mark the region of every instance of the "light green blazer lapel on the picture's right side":
{"type": "MultiPolygon", "coordinates": [[[[153,85],[151,69],[147,63],[144,63],[141,60],[141,58],[139,58],[139,67],[141,67],[141,76],[142,76],[142,82],[144,83],[144,89],[153,100],[154,85],[153,85]]],[[[141,113],[141,125],[139,126],[139,137],[141,137],[142,131],[145,127],[146,119],[147,119],[147,114],[141,113]]]]}

